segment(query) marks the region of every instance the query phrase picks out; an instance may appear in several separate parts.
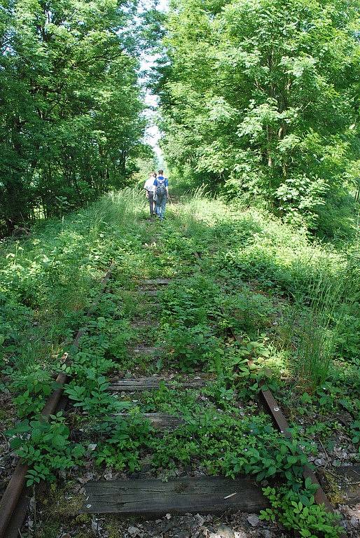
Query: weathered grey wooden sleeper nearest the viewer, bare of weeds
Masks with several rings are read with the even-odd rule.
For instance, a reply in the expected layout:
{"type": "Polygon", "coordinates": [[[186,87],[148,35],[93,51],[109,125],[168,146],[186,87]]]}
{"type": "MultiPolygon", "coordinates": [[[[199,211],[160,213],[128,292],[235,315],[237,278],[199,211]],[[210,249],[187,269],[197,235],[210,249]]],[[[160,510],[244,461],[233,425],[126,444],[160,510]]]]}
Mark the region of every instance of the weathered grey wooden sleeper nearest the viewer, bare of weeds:
{"type": "Polygon", "coordinates": [[[250,478],[90,481],[85,492],[81,513],[258,512],[269,506],[261,487],[250,478]]]}

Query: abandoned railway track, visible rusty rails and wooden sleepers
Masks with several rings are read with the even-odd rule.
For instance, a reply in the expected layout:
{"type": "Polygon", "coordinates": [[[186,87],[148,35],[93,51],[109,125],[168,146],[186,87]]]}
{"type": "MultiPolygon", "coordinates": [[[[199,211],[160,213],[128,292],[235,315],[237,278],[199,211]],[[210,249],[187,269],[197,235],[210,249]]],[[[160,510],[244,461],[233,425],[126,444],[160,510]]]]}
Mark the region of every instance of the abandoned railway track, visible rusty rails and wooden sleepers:
{"type": "MultiPolygon", "coordinates": [[[[195,254],[195,261],[201,270],[201,256],[195,254]]],[[[113,267],[111,267],[102,281],[102,291],[111,277],[113,267]]],[[[152,304],[156,301],[156,296],[160,288],[167,287],[172,282],[169,279],[148,279],[137,282],[137,291],[132,292],[141,303],[146,301],[152,304]]],[[[88,317],[92,316],[100,298],[95,301],[88,312],[88,317]]],[[[74,339],[74,349],[76,349],[84,336],[84,329],[78,331],[74,339]]],[[[232,334],[233,340],[241,343],[240,336],[232,334]]],[[[152,343],[141,343],[134,347],[135,359],[141,357],[162,357],[160,347],[151,347],[152,343]]],[[[175,389],[176,391],[200,391],[207,382],[212,380],[212,376],[195,372],[191,375],[134,375],[134,377],[114,377],[112,375],[109,387],[107,388],[114,397],[127,401],[136,399],[141,401],[141,394],[151,394],[161,387],[175,389]]],[[[50,395],[41,415],[43,420],[48,420],[50,415],[55,414],[60,408],[66,406],[64,399],[64,385],[68,382],[67,375],[61,373],[57,378],[59,388],[50,395]]],[[[261,389],[261,400],[264,408],[268,411],[275,427],[284,437],[291,439],[289,425],[284,418],[281,408],[275,401],[269,389],[261,389]]],[[[130,413],[117,413],[120,418],[127,420],[130,413]]],[[[174,431],[184,424],[184,420],[179,414],[163,413],[160,411],[143,412],[144,417],[153,427],[154,435],[161,435],[162,432],[174,431]]],[[[0,538],[18,537],[21,526],[25,520],[28,507],[28,492],[25,487],[25,476],[28,468],[21,462],[15,469],[8,488],[1,499],[0,505],[0,538]]],[[[314,473],[307,467],[303,468],[304,478],[310,478],[312,483],[316,483],[318,488],[315,494],[317,504],[324,504],[328,511],[332,506],[319,485],[314,473]]],[[[216,513],[223,511],[247,511],[258,512],[268,507],[268,501],[263,497],[261,487],[251,476],[237,476],[225,478],[221,476],[182,476],[171,478],[164,482],[158,478],[145,476],[145,478],[121,478],[116,480],[95,480],[85,481],[85,494],[80,513],[105,514],[116,513],[122,515],[144,515],[144,514],[164,514],[164,513],[216,513]]]]}

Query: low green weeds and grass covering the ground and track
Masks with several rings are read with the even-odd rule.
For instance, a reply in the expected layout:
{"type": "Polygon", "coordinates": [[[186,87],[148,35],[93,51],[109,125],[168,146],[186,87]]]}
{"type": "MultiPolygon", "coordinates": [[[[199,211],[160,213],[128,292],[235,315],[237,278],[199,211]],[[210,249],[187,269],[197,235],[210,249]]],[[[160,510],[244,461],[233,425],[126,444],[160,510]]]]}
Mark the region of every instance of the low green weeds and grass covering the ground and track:
{"type": "Polygon", "coordinates": [[[201,196],[170,206],[162,225],[148,223],[145,211],[138,193],[123,191],[3,244],[1,312],[11,312],[16,323],[1,322],[3,386],[22,420],[14,425],[12,411],[6,422],[16,435],[13,450],[30,465],[29,484],[53,479],[57,469],[71,476],[85,462],[99,474],[131,472],[144,457],[160,476],[174,469],[254,474],[271,481],[265,494],[272,509],[263,518],[277,518],[304,537],[337,536],[337,524],[314,504],[314,487],[300,469],[323,448],[341,464],[344,443],[345,461],[356,459],[355,246],[347,243],[342,252],[314,244],[264,210],[201,196]],[[85,317],[111,260],[109,288],[85,317]],[[138,280],[155,277],[171,282],[156,298],[134,301],[138,280]],[[71,334],[79,326],[85,333],[74,350],[71,334]],[[162,349],[159,357],[132,355],[144,338],[162,349]],[[78,441],[69,438],[62,415],[39,420],[53,374],[64,368],[73,403],[66,422],[84,432],[78,441]],[[170,376],[174,386],[137,401],[109,391],[113,378],[139,373],[170,376]],[[200,373],[207,375],[205,387],[177,385],[200,373]],[[284,406],[293,441],[261,411],[261,380],[284,406]],[[347,425],[340,422],[344,409],[347,425]],[[184,422],[159,434],[142,415],[155,411],[184,422]]]}

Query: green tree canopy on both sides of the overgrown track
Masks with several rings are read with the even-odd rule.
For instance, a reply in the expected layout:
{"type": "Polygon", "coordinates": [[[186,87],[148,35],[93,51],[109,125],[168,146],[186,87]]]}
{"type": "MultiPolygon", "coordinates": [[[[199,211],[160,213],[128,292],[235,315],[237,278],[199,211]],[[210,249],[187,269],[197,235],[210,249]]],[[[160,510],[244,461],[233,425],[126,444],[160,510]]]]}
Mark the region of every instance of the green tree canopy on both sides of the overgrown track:
{"type": "Polygon", "coordinates": [[[141,48],[173,173],[335,235],[359,198],[359,0],[5,0],[0,233],[151,161],[141,48]]]}

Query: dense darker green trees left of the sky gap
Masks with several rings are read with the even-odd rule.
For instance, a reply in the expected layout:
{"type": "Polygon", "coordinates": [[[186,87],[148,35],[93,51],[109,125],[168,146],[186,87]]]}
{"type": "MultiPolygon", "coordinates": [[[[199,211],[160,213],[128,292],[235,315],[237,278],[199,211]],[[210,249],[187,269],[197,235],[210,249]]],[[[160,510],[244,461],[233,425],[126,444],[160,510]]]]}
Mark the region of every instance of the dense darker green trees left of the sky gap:
{"type": "Polygon", "coordinates": [[[144,153],[136,8],[1,4],[0,233],[120,186],[144,153]]]}

